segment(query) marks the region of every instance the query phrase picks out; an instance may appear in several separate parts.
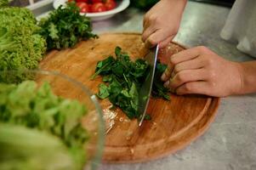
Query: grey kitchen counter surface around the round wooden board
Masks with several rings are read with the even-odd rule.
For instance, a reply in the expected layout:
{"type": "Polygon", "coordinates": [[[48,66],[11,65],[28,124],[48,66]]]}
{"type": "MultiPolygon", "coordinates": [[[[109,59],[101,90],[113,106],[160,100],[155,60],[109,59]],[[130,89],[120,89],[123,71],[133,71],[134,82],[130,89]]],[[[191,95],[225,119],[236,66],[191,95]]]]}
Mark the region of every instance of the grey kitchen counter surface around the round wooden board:
{"type": "MultiPolygon", "coordinates": [[[[219,32],[230,8],[189,2],[174,41],[187,47],[204,45],[225,59],[253,60],[225,42],[219,32]]],[[[94,31],[142,31],[144,12],[128,8],[110,20],[94,22],[94,31]]],[[[184,150],[156,161],[103,164],[100,170],[256,170],[256,94],[221,99],[208,131],[184,150]]]]}

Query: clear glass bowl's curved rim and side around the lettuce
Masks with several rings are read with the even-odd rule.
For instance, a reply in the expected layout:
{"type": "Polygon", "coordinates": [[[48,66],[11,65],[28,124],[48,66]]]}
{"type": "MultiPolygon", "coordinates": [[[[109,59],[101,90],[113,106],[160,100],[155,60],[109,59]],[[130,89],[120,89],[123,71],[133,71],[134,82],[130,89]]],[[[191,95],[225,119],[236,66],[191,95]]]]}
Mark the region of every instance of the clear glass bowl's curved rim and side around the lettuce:
{"type": "Polygon", "coordinates": [[[57,96],[64,99],[77,99],[79,102],[86,105],[88,113],[82,118],[82,127],[87,129],[89,139],[84,147],[87,156],[84,169],[97,169],[100,166],[104,147],[105,122],[102,109],[96,96],[82,85],[81,82],[77,82],[71,77],[67,77],[55,71],[19,70],[0,72],[0,82],[18,83],[21,82],[24,77],[37,82],[39,87],[43,82],[48,82],[53,93],[57,96]]]}

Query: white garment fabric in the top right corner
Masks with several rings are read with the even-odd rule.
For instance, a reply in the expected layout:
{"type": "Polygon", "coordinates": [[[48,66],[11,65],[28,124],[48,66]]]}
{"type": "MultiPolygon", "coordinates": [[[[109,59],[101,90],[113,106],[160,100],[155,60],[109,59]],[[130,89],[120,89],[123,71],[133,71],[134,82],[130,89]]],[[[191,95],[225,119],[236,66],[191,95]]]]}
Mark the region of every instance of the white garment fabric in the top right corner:
{"type": "Polygon", "coordinates": [[[238,50],[256,57],[256,0],[236,0],[220,33],[238,50]]]}

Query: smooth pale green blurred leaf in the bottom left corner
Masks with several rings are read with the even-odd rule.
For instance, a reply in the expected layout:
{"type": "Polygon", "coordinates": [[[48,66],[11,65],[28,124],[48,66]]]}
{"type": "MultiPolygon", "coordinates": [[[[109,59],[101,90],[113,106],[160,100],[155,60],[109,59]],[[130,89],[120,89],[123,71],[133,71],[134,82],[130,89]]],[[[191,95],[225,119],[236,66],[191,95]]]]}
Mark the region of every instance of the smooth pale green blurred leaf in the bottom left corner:
{"type": "Polygon", "coordinates": [[[2,170],[75,170],[71,153],[60,139],[36,129],[0,123],[2,170]]]}

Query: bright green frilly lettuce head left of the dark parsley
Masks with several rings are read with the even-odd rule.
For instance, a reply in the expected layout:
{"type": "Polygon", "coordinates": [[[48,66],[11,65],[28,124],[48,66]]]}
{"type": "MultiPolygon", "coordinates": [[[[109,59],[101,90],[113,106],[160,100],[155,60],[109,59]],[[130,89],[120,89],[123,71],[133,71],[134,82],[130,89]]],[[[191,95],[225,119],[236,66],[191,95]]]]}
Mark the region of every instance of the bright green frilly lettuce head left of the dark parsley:
{"type": "MultiPolygon", "coordinates": [[[[37,20],[27,8],[0,8],[0,71],[37,69],[43,58],[46,43],[37,32],[37,20]]],[[[8,77],[0,77],[6,82],[8,77]]],[[[20,82],[26,75],[14,77],[20,82]]]]}

